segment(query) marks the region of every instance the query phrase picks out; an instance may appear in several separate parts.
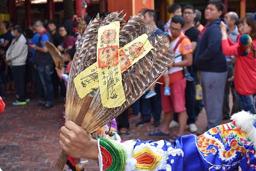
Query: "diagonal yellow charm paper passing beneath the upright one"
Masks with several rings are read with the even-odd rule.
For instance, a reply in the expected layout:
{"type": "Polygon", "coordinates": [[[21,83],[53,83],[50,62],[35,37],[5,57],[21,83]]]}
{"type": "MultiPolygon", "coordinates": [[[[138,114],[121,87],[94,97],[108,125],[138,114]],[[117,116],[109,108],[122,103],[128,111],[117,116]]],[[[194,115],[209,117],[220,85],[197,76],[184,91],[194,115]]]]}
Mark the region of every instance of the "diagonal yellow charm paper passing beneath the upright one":
{"type": "MultiPolygon", "coordinates": [[[[103,41],[108,43],[108,41],[105,41],[104,39],[103,41]]],[[[148,35],[143,34],[140,37],[134,39],[132,42],[126,44],[122,49],[119,49],[119,64],[121,67],[121,72],[124,72],[126,69],[128,69],[128,67],[131,67],[131,65],[135,64],[153,48],[154,47],[148,41],[148,35]]],[[[109,48],[106,48],[105,50],[109,50],[109,48]]],[[[118,70],[118,68],[116,70],[118,70]]],[[[81,99],[84,98],[93,89],[97,89],[99,87],[97,71],[98,62],[92,64],[90,67],[77,75],[74,79],[77,93],[81,99]]],[[[105,71],[102,70],[102,74],[105,74],[105,71]]],[[[117,80],[119,80],[119,78],[117,78],[117,80]]],[[[103,83],[105,83],[105,80],[103,83]]]]}

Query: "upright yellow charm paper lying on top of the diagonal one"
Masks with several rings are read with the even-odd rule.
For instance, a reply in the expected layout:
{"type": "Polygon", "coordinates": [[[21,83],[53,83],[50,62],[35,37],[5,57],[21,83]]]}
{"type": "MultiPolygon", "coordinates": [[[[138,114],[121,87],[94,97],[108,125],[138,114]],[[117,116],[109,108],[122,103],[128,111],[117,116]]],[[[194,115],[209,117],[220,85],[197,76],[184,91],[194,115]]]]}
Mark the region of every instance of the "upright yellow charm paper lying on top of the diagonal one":
{"type": "Polygon", "coordinates": [[[99,90],[103,107],[119,107],[125,102],[119,63],[120,23],[102,26],[98,31],[97,63],[99,90]]]}

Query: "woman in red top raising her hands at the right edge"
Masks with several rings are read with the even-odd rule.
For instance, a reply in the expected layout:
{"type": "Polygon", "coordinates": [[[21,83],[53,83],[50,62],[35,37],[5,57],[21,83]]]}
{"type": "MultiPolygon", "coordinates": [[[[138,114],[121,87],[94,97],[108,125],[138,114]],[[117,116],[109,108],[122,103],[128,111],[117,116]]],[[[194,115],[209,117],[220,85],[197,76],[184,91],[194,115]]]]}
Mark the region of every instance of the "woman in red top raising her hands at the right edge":
{"type": "MultiPolygon", "coordinates": [[[[249,52],[247,56],[240,56],[237,52],[238,43],[233,43],[227,36],[227,26],[222,22],[222,51],[224,55],[236,55],[234,70],[234,85],[242,110],[256,114],[254,95],[256,94],[256,59],[249,52]]],[[[256,21],[253,14],[246,14],[242,19],[241,34],[250,35],[253,46],[256,46],[256,21]]]]}

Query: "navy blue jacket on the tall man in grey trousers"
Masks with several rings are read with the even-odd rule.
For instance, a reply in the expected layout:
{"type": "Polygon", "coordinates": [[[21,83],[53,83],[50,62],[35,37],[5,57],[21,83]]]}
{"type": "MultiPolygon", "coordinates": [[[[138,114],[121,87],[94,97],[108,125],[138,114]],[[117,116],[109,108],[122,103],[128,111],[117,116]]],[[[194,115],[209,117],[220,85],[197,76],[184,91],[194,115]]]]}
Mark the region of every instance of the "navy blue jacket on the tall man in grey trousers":
{"type": "Polygon", "coordinates": [[[221,19],[213,20],[198,36],[194,66],[206,72],[227,71],[226,57],[221,48],[221,19]]]}

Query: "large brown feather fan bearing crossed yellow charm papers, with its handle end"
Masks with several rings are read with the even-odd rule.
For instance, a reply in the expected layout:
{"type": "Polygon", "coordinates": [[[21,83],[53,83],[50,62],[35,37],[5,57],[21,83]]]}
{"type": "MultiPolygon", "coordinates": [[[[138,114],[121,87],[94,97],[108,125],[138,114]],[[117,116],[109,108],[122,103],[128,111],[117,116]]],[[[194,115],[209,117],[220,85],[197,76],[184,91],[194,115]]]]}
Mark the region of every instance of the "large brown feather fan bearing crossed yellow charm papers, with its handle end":
{"type": "MultiPolygon", "coordinates": [[[[113,12],[102,21],[92,20],[73,59],[66,121],[88,133],[110,122],[147,92],[174,57],[164,35],[154,35],[156,26],[145,23],[142,14],[127,23],[119,15],[113,12]]],[[[61,171],[66,160],[62,151],[55,168],[61,171]]]]}

